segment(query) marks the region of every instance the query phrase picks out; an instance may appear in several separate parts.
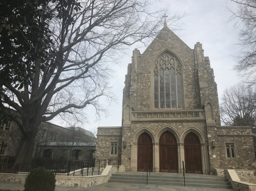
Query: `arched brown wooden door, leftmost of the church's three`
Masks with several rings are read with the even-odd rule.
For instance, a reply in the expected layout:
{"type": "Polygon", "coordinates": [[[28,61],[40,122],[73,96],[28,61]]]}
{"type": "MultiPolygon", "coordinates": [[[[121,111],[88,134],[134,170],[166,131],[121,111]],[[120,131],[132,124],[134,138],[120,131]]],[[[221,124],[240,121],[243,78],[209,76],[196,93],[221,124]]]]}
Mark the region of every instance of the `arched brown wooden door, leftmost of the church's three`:
{"type": "Polygon", "coordinates": [[[142,133],[138,139],[138,171],[147,171],[152,169],[153,164],[153,146],[152,139],[147,133],[142,133]]]}

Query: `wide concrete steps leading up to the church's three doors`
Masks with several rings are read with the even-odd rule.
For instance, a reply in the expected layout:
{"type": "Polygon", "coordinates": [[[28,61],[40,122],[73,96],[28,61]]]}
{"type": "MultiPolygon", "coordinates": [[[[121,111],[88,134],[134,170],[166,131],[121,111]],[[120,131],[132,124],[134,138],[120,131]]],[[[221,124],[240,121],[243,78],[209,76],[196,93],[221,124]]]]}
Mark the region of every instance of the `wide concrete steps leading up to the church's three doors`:
{"type": "MultiPolygon", "coordinates": [[[[146,184],[147,174],[118,172],[112,174],[109,182],[146,184]]],[[[177,173],[148,173],[148,184],[184,186],[184,177],[177,173]]],[[[201,188],[232,188],[230,182],[224,177],[210,175],[189,174],[185,177],[185,185],[201,188]]]]}

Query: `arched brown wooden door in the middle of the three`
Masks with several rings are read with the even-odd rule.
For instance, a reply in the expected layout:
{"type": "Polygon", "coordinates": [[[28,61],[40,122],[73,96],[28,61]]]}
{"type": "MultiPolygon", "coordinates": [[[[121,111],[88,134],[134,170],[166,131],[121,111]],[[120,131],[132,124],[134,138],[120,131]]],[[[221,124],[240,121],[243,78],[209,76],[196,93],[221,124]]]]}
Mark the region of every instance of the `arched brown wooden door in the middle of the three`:
{"type": "Polygon", "coordinates": [[[159,139],[159,171],[178,172],[177,141],[170,131],[159,139]]]}

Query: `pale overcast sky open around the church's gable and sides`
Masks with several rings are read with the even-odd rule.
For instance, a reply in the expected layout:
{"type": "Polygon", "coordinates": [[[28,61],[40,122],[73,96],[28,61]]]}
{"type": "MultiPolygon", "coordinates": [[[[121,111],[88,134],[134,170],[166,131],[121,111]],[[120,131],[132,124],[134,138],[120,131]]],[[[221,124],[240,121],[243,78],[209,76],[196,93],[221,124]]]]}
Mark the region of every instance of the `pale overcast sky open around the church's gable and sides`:
{"type": "MultiPolygon", "coordinates": [[[[187,16],[180,20],[179,31],[174,31],[191,49],[197,42],[203,44],[204,56],[209,56],[210,65],[214,70],[215,81],[218,85],[218,96],[221,99],[225,88],[233,86],[241,80],[236,71],[233,70],[234,58],[240,52],[241,46],[238,45],[239,32],[234,27],[233,22],[229,22],[230,12],[226,7],[235,9],[236,5],[230,0],[163,0],[154,3],[152,9],[160,9],[169,6],[167,15],[183,14],[187,16]]],[[[171,27],[170,27],[171,28],[171,27]]],[[[110,80],[110,86],[117,97],[117,103],[105,104],[108,108],[109,116],[101,116],[96,121],[94,110],[86,109],[88,113],[88,123],[75,124],[97,133],[98,126],[121,126],[122,121],[122,89],[124,87],[127,65],[131,62],[133,46],[128,50],[127,55],[123,55],[118,65],[114,66],[113,78],[110,80]]],[[[138,48],[141,53],[146,47],[138,48]]],[[[220,100],[221,101],[221,100],[220,100]]],[[[65,126],[59,120],[50,121],[53,124],[65,126]]]]}

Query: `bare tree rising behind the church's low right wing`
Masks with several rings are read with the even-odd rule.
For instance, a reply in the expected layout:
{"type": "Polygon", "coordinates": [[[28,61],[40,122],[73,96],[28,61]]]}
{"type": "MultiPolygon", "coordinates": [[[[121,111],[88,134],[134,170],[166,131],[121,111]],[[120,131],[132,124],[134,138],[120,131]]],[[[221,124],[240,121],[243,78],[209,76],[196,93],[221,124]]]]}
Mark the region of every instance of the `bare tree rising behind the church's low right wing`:
{"type": "Polygon", "coordinates": [[[221,106],[221,122],[224,125],[255,126],[256,89],[237,84],[224,91],[221,106]]]}

